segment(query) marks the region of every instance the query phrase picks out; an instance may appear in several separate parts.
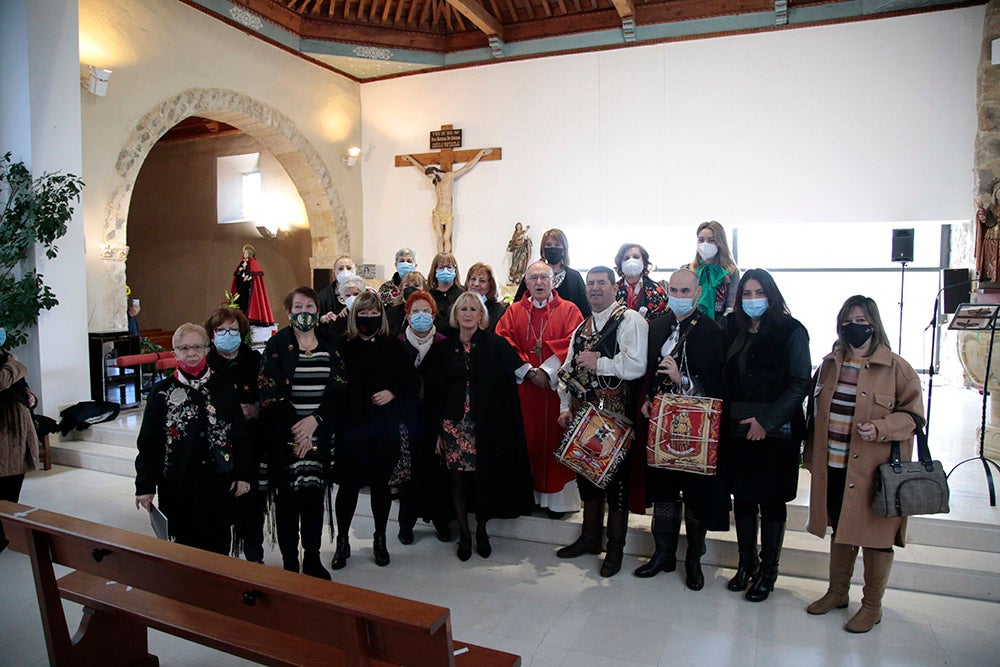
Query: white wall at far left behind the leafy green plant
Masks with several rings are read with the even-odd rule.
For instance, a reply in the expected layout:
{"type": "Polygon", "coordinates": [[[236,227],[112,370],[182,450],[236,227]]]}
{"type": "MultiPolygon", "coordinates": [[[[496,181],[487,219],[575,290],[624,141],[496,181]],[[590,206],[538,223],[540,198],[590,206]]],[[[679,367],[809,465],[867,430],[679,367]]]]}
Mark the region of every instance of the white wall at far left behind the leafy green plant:
{"type": "MultiPolygon", "coordinates": [[[[40,175],[82,173],[77,5],[72,0],[0,0],[0,152],[11,151],[40,175]]],[[[16,350],[41,411],[89,397],[84,233],[80,207],[57,243],[54,260],[35,268],[59,305],[42,311],[31,341],[16,350]],[[75,333],[74,333],[75,332],[75,333]]]]}

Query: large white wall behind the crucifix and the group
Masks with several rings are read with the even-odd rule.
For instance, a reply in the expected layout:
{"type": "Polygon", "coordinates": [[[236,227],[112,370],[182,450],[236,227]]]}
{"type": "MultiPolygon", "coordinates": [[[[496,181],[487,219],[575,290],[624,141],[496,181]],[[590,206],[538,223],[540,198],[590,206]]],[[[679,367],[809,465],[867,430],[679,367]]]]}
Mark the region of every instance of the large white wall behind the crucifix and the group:
{"type": "MultiPolygon", "coordinates": [[[[514,223],[573,263],[639,241],[690,261],[695,225],[948,221],[972,214],[983,7],[500,63],[364,84],[364,256],[433,256],[434,195],[393,156],[451,123],[501,146],[456,185],[455,252],[506,275],[514,223]]],[[[909,226],[909,225],[898,225],[909,226]]],[[[861,242],[862,239],[859,239],[861,242]]],[[[822,250],[775,238],[789,265],[822,250]]],[[[875,240],[885,244],[881,236],[875,240]]],[[[835,258],[823,258],[825,265],[835,258]]],[[[741,257],[743,266],[758,263],[741,257]]]]}

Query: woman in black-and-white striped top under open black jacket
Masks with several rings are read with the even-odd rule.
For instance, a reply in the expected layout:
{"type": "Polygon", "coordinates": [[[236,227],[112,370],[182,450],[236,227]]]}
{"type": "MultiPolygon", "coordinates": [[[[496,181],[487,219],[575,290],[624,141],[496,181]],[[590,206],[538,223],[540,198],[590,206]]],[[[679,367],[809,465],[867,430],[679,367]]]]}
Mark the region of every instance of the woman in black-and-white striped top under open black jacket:
{"type": "Polygon", "coordinates": [[[259,386],[282,563],[299,571],[301,526],[303,574],[329,579],[319,548],[344,378],[331,327],[317,327],[318,304],[310,287],[297,287],[285,297],[291,326],[267,341],[259,386]]]}

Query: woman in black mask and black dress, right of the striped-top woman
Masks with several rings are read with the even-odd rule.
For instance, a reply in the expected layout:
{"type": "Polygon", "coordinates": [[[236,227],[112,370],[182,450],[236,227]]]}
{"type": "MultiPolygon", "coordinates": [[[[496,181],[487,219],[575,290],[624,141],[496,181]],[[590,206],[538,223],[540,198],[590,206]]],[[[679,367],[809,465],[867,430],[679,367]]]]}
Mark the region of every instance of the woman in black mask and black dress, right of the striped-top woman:
{"type": "Polygon", "coordinates": [[[410,478],[410,431],[419,382],[403,346],[389,336],[382,300],[374,292],[357,298],[347,320],[343,345],[348,393],[337,431],[337,551],[339,570],[351,557],[348,531],[358,494],[368,487],[375,535],[375,564],[389,564],[385,529],[391,488],[410,478]]]}

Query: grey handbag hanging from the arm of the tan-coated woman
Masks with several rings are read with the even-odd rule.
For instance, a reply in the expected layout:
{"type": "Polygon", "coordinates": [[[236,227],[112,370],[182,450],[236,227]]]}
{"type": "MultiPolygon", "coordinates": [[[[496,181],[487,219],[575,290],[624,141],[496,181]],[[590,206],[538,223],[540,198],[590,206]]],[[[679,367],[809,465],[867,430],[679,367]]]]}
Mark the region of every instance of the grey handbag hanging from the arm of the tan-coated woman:
{"type": "Polygon", "coordinates": [[[931,460],[927,447],[924,420],[915,414],[917,425],[917,461],[902,461],[899,441],[893,440],[889,462],[875,472],[875,499],[872,509],[876,516],[913,516],[915,514],[947,514],[948,476],[940,461],[931,460]]]}

